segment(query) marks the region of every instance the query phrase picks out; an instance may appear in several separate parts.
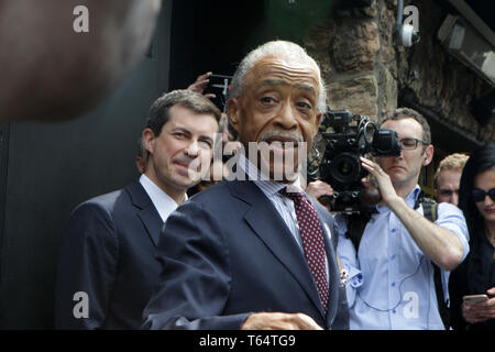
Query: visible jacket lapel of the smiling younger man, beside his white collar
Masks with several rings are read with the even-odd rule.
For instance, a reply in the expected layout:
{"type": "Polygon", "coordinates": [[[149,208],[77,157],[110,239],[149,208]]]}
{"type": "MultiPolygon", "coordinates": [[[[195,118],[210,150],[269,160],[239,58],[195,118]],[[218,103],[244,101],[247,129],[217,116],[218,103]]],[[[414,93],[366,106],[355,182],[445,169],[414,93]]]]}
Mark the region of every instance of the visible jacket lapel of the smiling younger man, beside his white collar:
{"type": "Polygon", "coordinates": [[[158,245],[160,232],[162,231],[163,221],[151,201],[143,186],[139,182],[134,182],[125,190],[131,197],[135,213],[140,218],[143,227],[146,229],[150,240],[155,246],[158,245]]]}

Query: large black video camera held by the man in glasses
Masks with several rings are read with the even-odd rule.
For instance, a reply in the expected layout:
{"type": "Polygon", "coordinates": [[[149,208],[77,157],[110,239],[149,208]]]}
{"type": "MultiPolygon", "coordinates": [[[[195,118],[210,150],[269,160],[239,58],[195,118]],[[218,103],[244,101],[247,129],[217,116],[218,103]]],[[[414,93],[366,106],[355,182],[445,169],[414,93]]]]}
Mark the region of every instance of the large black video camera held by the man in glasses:
{"type": "Polygon", "coordinates": [[[319,179],[333,188],[333,199],[330,199],[332,211],[360,212],[371,207],[370,195],[364,193],[361,179],[367,172],[361,166],[360,156],[398,156],[400,142],[397,132],[389,129],[378,129],[370,118],[352,114],[348,110],[329,110],[324,114],[327,124],[336,133],[322,133],[326,148],[320,164],[308,178],[319,179]],[[351,131],[351,122],[356,122],[355,131],[351,131]]]}

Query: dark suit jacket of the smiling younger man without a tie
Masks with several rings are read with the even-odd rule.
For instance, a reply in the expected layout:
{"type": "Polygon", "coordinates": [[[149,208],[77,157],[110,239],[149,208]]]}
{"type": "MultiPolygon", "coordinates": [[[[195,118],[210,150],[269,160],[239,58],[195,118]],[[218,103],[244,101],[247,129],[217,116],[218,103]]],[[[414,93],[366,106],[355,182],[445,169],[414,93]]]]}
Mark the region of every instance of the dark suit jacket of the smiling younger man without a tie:
{"type": "Polygon", "coordinates": [[[79,205],[59,250],[55,327],[140,328],[161,272],[155,251],[162,226],[139,182],[79,205]],[[77,292],[88,295],[88,318],[77,319],[73,314],[82,302],[74,300],[77,292]]]}

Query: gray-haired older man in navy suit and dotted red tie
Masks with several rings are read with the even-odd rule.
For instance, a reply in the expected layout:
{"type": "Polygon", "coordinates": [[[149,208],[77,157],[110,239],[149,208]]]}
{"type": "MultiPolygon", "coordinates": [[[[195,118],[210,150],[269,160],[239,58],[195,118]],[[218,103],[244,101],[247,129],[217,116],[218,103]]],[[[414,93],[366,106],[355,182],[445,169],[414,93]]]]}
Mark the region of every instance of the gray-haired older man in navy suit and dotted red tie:
{"type": "Polygon", "coordinates": [[[297,178],[324,109],[319,67],[300,46],[270,42],[242,61],[228,101],[244,146],[237,179],[167,220],[144,328],[348,329],[333,218],[297,178]]]}

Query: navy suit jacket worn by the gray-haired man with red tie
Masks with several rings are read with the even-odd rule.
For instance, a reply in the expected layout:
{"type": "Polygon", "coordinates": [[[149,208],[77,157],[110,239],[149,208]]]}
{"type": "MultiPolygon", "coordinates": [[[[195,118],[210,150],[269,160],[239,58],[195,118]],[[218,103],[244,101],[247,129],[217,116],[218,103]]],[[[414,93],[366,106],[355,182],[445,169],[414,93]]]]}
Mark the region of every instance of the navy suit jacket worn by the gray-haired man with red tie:
{"type": "MultiPolygon", "coordinates": [[[[333,217],[316,207],[337,237],[333,217]]],[[[282,311],[307,314],[322,328],[348,329],[345,290],[329,240],[326,250],[327,317],[302,251],[272,202],[251,182],[222,182],[167,219],[157,251],[164,270],[143,328],[239,329],[250,312],[282,311]]]]}

